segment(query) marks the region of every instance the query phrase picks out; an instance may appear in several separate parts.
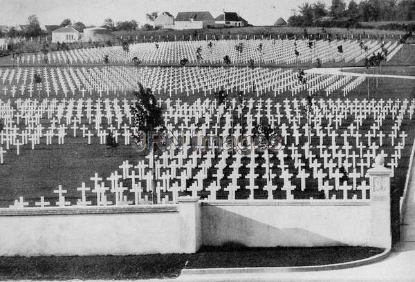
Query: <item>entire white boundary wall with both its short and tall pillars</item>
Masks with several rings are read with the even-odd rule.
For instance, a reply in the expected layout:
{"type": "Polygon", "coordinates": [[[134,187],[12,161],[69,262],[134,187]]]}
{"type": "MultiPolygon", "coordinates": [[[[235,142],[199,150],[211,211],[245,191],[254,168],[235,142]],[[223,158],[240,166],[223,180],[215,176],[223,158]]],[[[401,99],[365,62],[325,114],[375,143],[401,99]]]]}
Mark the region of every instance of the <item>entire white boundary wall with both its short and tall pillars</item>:
{"type": "MultiPolygon", "coordinates": [[[[379,159],[379,156],[376,157],[379,159]]],[[[368,170],[370,200],[199,201],[0,209],[0,256],[192,253],[201,245],[391,248],[390,170],[368,170]]]]}

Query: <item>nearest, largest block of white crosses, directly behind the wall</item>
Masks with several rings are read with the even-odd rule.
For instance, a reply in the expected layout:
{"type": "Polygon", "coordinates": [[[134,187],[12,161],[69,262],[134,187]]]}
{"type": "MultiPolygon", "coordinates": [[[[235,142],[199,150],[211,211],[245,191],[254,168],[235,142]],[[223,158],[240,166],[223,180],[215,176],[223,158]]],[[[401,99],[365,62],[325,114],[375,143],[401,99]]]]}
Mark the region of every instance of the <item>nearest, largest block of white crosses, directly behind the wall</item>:
{"type": "MultiPolygon", "coordinates": [[[[94,102],[96,101],[91,101],[91,99],[86,101],[71,99],[60,101],[60,103],[56,99],[44,100],[43,103],[17,101],[15,105],[18,110],[12,110],[10,101],[0,104],[1,117],[12,116],[5,119],[9,122],[6,123],[1,133],[1,143],[17,145],[29,137],[29,140],[37,144],[42,137],[48,139],[47,132],[62,128],[57,129],[59,138],[59,135],[66,134],[67,128],[64,124],[66,121],[75,125],[74,122],[79,122],[79,124],[82,120],[85,122],[87,119],[82,119],[82,117],[85,115],[88,117],[89,113],[94,116],[95,112],[101,112],[102,103],[107,109],[102,109],[107,113],[107,119],[118,112],[120,120],[127,121],[128,111],[126,109],[129,108],[131,101],[124,99],[123,101],[114,100],[111,103],[111,100],[106,99],[98,103],[94,102]],[[50,112],[48,108],[51,108],[50,112]],[[91,114],[93,111],[94,113],[91,114]],[[28,128],[26,133],[24,130],[18,133],[19,129],[13,121],[16,121],[18,114],[25,115],[26,112],[37,113],[37,117],[35,114],[30,121],[33,123],[28,122],[26,126],[31,128],[28,128]],[[55,117],[58,112],[61,115],[60,122],[55,117]],[[66,119],[62,118],[64,112],[66,112],[66,119]],[[44,133],[40,121],[42,117],[48,115],[53,117],[54,121],[44,133]]],[[[208,199],[216,199],[216,192],[222,188],[228,192],[228,199],[235,199],[243,187],[241,179],[249,182],[249,185],[245,185],[245,189],[250,190],[247,196],[250,199],[255,199],[255,190],[259,189],[267,192],[268,199],[275,199],[273,193],[279,189],[286,192],[286,199],[293,199],[298,188],[301,191],[307,188],[306,183],[309,179],[317,179],[316,189],[324,191],[326,199],[336,197],[333,194],[335,191],[342,191],[342,199],[347,199],[349,192],[356,197],[354,194],[356,190],[361,190],[362,199],[366,199],[368,187],[367,181],[363,179],[365,170],[370,168],[378,153],[383,154],[389,160],[387,165],[390,165],[392,170],[398,168],[398,161],[402,157],[405,146],[408,145],[407,134],[400,128],[404,120],[412,122],[415,110],[415,100],[406,99],[403,101],[399,99],[387,101],[320,99],[315,101],[311,107],[311,117],[304,114],[303,107],[306,101],[297,99],[291,101],[285,99],[282,102],[276,102],[273,99],[249,99],[244,100],[241,105],[232,99],[219,107],[216,101],[209,99],[196,99],[194,103],[166,99],[165,101],[159,100],[158,103],[166,108],[164,118],[167,129],[176,137],[181,134],[184,137],[184,143],[180,148],[171,146],[156,160],[154,173],[157,179],[158,202],[163,201],[160,199],[163,193],[172,193],[172,200],[175,201],[179,192],[197,195],[203,190],[210,192],[208,199]],[[245,156],[221,150],[223,148],[220,148],[217,143],[208,145],[205,150],[201,150],[203,148],[192,150],[192,145],[194,145],[192,137],[195,135],[213,135],[221,138],[233,136],[237,140],[242,135],[252,135],[255,124],[265,119],[268,119],[284,140],[282,142],[284,145],[277,152],[267,150],[257,152],[250,149],[248,150],[250,154],[245,156]],[[367,131],[362,132],[362,128],[367,131]],[[247,161],[246,169],[249,172],[243,174],[240,168],[243,168],[242,163],[247,163],[247,161]],[[229,163],[231,164],[228,165],[229,163]],[[226,172],[228,167],[232,169],[230,174],[226,172]],[[351,184],[341,181],[343,176],[340,172],[341,167],[349,172],[351,184]],[[264,179],[266,184],[259,185],[256,183],[257,179],[264,179]],[[283,183],[279,185],[277,179],[282,179],[283,183]],[[293,184],[294,179],[300,180],[298,188],[293,184]],[[190,180],[192,184],[187,185],[187,180],[190,180]]],[[[96,116],[94,119],[96,120],[96,116]]],[[[88,122],[85,123],[88,124],[88,122]]],[[[92,136],[104,134],[102,132],[108,129],[108,123],[107,125],[97,123],[98,126],[106,126],[101,127],[102,129],[96,127],[86,129],[85,123],[81,129],[82,136],[89,138],[89,143],[91,143],[92,136]]],[[[112,123],[109,123],[109,127],[116,130],[116,126],[112,123]]],[[[77,130],[79,129],[75,126],[74,136],[77,130]]],[[[127,132],[124,134],[124,139],[127,139],[131,134],[129,131],[131,128],[127,123],[124,123],[124,130],[127,132]]],[[[235,145],[243,148],[240,142],[235,145]]],[[[2,151],[3,148],[0,148],[0,152],[2,151]]],[[[2,154],[0,153],[0,157],[2,154]]],[[[135,193],[133,203],[140,203],[142,192],[149,192],[149,187],[151,187],[152,176],[148,168],[152,166],[152,159],[149,156],[134,166],[135,170],[130,170],[133,168],[132,164],[124,163],[120,167],[122,173],[118,174],[115,171],[107,178],[111,181],[111,188],[107,188],[102,181],[93,180],[93,191],[97,193],[97,199],[100,199],[97,200],[98,205],[109,204],[105,197],[107,190],[116,193],[116,204],[129,203],[127,195],[123,194],[129,187],[128,191],[135,193]],[[119,181],[121,179],[122,182],[119,181]],[[131,185],[128,186],[130,181],[131,185]],[[143,185],[144,183],[146,185],[143,185]]],[[[95,175],[95,179],[97,177],[98,175],[95,175]]],[[[58,205],[66,205],[66,201],[61,196],[59,196],[58,205]]],[[[84,203],[84,200],[81,202],[84,203]]],[[[21,201],[17,201],[18,206],[20,203],[21,201]]]]}

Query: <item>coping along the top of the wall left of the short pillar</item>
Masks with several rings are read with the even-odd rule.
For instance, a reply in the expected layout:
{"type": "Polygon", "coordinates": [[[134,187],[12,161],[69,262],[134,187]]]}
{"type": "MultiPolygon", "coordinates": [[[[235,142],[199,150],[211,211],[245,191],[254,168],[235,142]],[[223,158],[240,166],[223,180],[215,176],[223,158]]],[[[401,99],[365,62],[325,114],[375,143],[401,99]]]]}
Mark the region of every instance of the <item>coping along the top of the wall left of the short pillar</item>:
{"type": "Polygon", "coordinates": [[[177,205],[107,205],[68,206],[44,208],[0,208],[0,216],[37,216],[71,214],[140,214],[153,212],[178,212],[177,205]]]}

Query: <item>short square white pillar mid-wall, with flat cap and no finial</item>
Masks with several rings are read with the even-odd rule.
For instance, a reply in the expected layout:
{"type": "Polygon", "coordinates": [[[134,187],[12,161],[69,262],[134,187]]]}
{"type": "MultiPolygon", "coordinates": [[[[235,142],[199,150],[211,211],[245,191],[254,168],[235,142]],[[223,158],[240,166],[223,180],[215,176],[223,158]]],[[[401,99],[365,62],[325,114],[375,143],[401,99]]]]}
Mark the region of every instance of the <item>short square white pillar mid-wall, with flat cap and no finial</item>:
{"type": "Polygon", "coordinates": [[[178,197],[180,213],[180,247],[186,254],[197,252],[202,243],[201,197],[178,197]]]}

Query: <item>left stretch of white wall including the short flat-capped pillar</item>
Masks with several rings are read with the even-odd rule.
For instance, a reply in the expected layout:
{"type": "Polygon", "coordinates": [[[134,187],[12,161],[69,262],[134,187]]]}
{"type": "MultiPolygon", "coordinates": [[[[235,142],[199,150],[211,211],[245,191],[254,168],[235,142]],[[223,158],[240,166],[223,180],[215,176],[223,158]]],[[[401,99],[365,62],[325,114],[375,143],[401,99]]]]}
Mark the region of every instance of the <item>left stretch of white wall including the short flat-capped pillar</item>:
{"type": "MultiPolygon", "coordinates": [[[[0,210],[0,256],[192,253],[199,198],[178,205],[0,210]]],[[[197,240],[197,241],[196,241],[197,240]]]]}

